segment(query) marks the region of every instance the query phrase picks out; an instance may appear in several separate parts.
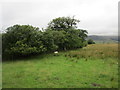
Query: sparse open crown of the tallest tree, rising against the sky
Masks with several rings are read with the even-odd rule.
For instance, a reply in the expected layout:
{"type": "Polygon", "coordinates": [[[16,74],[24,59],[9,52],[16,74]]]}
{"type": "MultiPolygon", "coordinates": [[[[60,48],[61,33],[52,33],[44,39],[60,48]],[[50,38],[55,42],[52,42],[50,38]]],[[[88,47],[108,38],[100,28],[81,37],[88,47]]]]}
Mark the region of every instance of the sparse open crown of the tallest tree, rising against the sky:
{"type": "Polygon", "coordinates": [[[71,28],[77,28],[77,23],[80,21],[77,19],[74,19],[74,17],[59,17],[56,19],[53,19],[50,23],[48,23],[47,29],[51,30],[68,30],[71,28]]]}

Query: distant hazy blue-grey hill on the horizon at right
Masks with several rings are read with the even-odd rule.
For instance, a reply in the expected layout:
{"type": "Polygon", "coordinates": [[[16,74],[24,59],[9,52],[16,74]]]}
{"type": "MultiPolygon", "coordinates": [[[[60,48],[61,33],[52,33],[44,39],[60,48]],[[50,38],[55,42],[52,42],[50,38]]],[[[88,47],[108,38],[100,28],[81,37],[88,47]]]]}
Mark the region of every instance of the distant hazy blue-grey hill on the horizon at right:
{"type": "Polygon", "coordinates": [[[97,36],[97,35],[90,35],[90,36],[88,36],[87,39],[92,39],[96,43],[118,43],[118,36],[97,36]]]}

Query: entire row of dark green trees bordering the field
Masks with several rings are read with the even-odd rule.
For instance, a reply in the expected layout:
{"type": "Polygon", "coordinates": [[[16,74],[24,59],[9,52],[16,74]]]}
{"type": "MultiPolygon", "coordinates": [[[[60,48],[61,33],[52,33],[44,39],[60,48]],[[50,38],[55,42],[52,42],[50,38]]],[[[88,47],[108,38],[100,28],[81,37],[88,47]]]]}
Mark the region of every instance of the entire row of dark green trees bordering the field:
{"type": "Polygon", "coordinates": [[[42,30],[31,25],[8,27],[2,34],[3,59],[82,48],[88,44],[87,31],[77,29],[79,22],[74,17],[59,17],[42,30]]]}

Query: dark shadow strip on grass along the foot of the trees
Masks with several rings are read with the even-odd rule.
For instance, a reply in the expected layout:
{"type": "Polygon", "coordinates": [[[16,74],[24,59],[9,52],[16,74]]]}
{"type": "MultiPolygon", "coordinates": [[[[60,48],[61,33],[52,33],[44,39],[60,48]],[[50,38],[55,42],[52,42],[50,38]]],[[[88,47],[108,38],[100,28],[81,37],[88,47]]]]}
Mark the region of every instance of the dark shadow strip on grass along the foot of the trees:
{"type": "MultiPolygon", "coordinates": [[[[72,49],[72,50],[77,50],[77,49],[72,49]]],[[[31,54],[31,55],[27,55],[27,56],[20,56],[20,55],[17,55],[17,56],[7,56],[7,55],[4,55],[3,58],[2,58],[2,62],[11,62],[11,61],[27,61],[27,60],[37,60],[38,58],[39,59],[43,59],[43,58],[46,58],[46,57],[51,57],[51,56],[59,56],[61,54],[65,54],[65,53],[68,53],[69,51],[71,50],[60,50],[59,53],[57,55],[55,55],[53,52],[46,52],[46,53],[41,53],[41,54],[31,54]]]]}

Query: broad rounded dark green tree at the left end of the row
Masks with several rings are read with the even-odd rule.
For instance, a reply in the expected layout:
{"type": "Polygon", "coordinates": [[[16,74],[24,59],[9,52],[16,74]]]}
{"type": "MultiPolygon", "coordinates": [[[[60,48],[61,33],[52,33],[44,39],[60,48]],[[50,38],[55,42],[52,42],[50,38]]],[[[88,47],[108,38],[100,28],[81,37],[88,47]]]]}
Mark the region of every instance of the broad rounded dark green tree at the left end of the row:
{"type": "Polygon", "coordinates": [[[30,25],[14,25],[7,28],[3,35],[4,56],[27,56],[46,51],[41,41],[42,32],[39,28],[30,25]]]}

